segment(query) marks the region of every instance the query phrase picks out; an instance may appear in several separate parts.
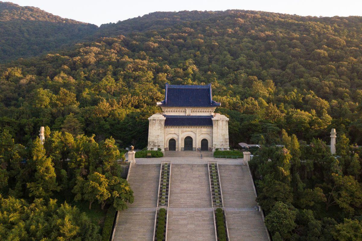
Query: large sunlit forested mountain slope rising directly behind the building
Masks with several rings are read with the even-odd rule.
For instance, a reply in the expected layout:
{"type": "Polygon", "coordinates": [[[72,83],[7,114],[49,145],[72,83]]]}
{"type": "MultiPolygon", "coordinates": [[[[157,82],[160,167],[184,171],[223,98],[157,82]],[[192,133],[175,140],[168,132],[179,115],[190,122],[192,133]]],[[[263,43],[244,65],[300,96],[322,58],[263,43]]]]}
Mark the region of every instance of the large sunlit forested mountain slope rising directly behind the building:
{"type": "Polygon", "coordinates": [[[74,113],[87,134],[144,147],[166,82],[212,83],[217,111],[230,117],[231,146],[278,143],[281,129],[327,140],[335,126],[360,142],[361,29],[361,17],[246,10],[156,12],[102,25],[93,42],[0,65],[0,127],[28,141],[39,123],[60,130],[74,113]]]}

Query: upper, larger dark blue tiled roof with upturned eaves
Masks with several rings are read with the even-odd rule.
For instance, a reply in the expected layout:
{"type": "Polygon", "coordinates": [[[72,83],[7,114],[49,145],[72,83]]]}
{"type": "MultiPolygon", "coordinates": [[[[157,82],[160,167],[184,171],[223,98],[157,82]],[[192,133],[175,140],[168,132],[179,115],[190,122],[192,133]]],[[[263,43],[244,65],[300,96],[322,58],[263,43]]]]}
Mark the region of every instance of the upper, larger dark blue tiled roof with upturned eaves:
{"type": "Polygon", "coordinates": [[[218,107],[212,100],[209,85],[168,85],[165,86],[165,100],[157,103],[167,107],[218,107]]]}

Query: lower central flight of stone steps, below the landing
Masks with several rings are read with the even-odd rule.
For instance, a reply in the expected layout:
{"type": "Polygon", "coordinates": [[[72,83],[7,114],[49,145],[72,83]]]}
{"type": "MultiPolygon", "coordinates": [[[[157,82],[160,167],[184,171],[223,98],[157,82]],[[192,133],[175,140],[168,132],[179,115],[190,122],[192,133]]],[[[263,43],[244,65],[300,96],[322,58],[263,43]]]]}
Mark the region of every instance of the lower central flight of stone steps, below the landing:
{"type": "Polygon", "coordinates": [[[212,211],[169,211],[168,241],[215,241],[212,211]]]}

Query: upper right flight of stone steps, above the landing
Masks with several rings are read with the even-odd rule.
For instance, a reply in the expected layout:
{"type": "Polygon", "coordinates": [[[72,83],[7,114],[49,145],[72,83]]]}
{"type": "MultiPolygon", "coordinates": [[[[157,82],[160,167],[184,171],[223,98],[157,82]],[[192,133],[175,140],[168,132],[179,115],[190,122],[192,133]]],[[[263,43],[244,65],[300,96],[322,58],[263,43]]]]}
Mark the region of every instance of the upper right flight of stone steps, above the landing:
{"type": "Polygon", "coordinates": [[[257,205],[247,165],[219,163],[219,175],[224,207],[254,207],[257,205]]]}

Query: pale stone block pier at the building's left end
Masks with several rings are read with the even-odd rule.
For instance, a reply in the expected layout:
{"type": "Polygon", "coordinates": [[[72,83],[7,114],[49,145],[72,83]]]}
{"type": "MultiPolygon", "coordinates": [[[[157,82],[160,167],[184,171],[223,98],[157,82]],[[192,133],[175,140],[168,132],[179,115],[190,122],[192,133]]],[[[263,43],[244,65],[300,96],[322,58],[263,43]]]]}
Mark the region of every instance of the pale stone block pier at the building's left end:
{"type": "Polygon", "coordinates": [[[161,113],[156,113],[148,118],[148,150],[157,150],[161,148],[164,151],[165,146],[165,120],[161,113]]]}

